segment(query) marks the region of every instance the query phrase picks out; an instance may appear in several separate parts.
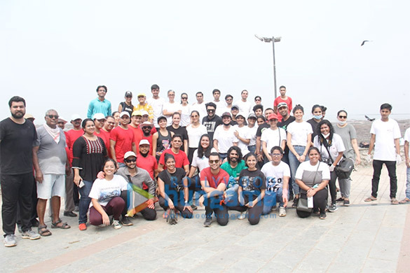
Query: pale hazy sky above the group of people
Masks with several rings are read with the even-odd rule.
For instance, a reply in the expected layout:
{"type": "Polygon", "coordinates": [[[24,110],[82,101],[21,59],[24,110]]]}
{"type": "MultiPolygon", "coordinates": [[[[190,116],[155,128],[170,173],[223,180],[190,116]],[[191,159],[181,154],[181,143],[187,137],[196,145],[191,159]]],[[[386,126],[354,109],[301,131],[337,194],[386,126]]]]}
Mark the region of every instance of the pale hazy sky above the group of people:
{"type": "Polygon", "coordinates": [[[24,97],[27,113],[43,123],[46,110],[86,116],[107,85],[113,111],[124,93],[160,86],[212,90],[273,106],[272,43],[276,78],[311,117],[313,104],[327,118],[410,118],[409,1],[0,1],[0,118],[8,100],[24,97]],[[371,42],[360,46],[362,41],[371,42]]]}

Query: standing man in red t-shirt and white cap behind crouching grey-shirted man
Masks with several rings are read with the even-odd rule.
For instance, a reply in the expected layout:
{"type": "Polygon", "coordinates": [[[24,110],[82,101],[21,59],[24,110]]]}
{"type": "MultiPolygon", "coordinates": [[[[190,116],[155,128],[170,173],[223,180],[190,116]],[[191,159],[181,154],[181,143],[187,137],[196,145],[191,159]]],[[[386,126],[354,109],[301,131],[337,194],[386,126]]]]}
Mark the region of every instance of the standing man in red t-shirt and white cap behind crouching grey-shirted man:
{"type": "Polygon", "coordinates": [[[111,130],[109,135],[111,158],[116,160],[119,167],[125,167],[124,155],[128,151],[137,153],[134,142],[134,133],[128,129],[130,113],[120,113],[120,126],[111,130]]]}

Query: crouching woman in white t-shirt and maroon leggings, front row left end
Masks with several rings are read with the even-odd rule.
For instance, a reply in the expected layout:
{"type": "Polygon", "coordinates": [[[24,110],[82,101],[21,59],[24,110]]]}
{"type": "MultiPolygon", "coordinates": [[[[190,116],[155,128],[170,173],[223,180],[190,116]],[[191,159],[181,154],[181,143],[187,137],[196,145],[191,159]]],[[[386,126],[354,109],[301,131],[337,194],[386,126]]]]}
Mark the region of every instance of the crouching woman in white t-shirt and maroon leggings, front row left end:
{"type": "Polygon", "coordinates": [[[122,228],[120,223],[121,212],[125,207],[125,200],[121,192],[126,193],[128,183],[122,176],[114,175],[116,162],[111,158],[104,162],[104,179],[95,179],[90,195],[90,224],[109,225],[109,216],[113,216],[112,225],[116,230],[122,228]]]}

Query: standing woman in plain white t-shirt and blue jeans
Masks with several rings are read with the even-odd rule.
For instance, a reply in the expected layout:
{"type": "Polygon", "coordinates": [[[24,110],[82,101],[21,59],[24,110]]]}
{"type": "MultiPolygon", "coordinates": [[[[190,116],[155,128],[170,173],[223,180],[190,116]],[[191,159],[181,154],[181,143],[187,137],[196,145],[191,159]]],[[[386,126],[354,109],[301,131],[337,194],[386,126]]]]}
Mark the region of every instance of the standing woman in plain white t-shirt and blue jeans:
{"type": "Polygon", "coordinates": [[[301,162],[307,160],[310,142],[312,141],[312,126],[303,121],[303,107],[298,104],[294,106],[293,116],[295,121],[287,125],[287,146],[289,147],[289,167],[292,175],[292,188],[294,200],[292,207],[296,208],[299,201],[299,186],[294,179],[296,169],[301,162]]]}

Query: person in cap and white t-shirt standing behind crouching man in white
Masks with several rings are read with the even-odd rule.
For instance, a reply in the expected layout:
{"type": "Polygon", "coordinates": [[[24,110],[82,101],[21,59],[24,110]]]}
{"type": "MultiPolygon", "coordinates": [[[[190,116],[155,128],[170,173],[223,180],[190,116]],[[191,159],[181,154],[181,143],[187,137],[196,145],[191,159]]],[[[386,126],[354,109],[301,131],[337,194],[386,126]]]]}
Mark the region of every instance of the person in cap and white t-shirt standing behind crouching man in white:
{"type": "Polygon", "coordinates": [[[261,142],[266,158],[272,161],[270,152],[274,146],[280,146],[282,150],[285,150],[286,132],[282,128],[278,128],[278,116],[275,113],[268,116],[268,122],[271,127],[262,132],[261,142]]]}

